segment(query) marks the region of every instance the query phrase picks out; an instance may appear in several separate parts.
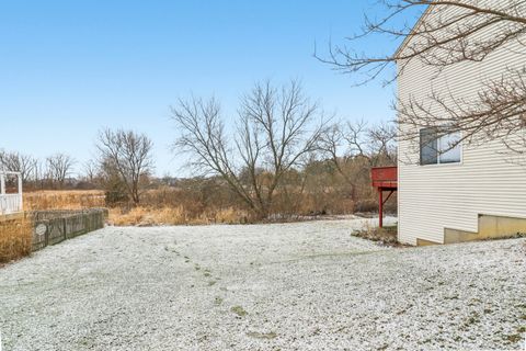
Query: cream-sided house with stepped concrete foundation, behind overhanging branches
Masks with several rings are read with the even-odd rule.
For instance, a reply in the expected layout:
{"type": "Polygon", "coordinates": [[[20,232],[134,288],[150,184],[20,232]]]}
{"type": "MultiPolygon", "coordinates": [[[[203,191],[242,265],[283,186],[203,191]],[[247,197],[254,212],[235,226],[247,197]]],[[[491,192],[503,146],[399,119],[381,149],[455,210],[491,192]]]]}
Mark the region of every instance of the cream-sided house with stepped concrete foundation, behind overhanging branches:
{"type": "MultiPolygon", "coordinates": [[[[433,11],[427,9],[416,25],[431,21],[433,11]]],[[[408,38],[399,53],[414,39],[418,37],[408,38]]],[[[485,82],[499,79],[510,67],[525,66],[524,43],[507,43],[482,61],[455,64],[441,70],[420,59],[399,61],[399,101],[403,104],[414,99],[431,110],[439,109],[430,98],[436,92],[473,101],[485,82]]],[[[445,145],[461,139],[460,132],[442,136],[433,128],[403,132],[418,132],[420,137],[399,143],[401,242],[451,244],[526,233],[526,165],[514,162],[502,141],[460,143],[448,148],[445,145]]]]}

